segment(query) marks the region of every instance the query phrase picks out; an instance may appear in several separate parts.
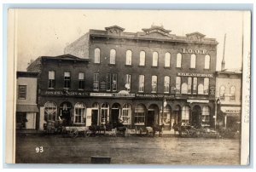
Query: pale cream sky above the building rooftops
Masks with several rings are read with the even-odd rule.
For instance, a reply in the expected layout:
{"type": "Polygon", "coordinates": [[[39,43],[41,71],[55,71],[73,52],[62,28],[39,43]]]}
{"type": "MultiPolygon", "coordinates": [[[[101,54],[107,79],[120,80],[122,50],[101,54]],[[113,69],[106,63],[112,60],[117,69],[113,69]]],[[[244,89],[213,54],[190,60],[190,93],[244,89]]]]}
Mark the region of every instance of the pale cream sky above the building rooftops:
{"type": "Polygon", "coordinates": [[[220,70],[225,41],[225,68],[241,68],[242,11],[175,10],[92,10],[92,9],[18,9],[16,11],[18,71],[26,71],[30,60],[64,53],[90,29],[121,26],[125,32],[142,32],[152,24],[162,25],[172,34],[185,36],[201,32],[216,38],[217,71],[220,70]]]}

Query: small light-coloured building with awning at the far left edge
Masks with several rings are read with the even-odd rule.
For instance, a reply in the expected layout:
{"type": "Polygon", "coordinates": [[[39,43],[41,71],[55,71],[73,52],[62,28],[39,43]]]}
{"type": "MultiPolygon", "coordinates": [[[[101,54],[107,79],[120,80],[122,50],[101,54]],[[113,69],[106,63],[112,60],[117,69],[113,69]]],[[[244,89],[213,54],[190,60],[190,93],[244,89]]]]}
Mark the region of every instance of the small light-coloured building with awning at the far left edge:
{"type": "Polygon", "coordinates": [[[38,129],[38,72],[17,72],[16,129],[38,129]]]}

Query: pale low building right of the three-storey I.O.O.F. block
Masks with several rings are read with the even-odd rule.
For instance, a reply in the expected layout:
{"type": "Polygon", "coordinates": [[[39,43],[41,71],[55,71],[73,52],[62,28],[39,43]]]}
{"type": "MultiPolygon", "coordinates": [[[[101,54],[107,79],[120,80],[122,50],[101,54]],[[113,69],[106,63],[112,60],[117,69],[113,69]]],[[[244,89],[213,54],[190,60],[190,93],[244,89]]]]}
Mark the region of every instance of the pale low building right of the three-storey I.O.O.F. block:
{"type": "Polygon", "coordinates": [[[216,72],[217,126],[241,129],[241,70],[216,72]]]}

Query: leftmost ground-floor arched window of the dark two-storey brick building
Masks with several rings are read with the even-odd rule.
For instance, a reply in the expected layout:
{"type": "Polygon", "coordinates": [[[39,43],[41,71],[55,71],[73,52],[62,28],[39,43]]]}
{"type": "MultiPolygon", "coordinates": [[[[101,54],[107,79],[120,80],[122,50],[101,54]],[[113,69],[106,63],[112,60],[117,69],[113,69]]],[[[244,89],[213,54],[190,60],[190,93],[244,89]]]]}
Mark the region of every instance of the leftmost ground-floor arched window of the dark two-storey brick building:
{"type": "Polygon", "coordinates": [[[53,101],[44,104],[44,121],[55,121],[57,118],[57,105],[53,101]]]}

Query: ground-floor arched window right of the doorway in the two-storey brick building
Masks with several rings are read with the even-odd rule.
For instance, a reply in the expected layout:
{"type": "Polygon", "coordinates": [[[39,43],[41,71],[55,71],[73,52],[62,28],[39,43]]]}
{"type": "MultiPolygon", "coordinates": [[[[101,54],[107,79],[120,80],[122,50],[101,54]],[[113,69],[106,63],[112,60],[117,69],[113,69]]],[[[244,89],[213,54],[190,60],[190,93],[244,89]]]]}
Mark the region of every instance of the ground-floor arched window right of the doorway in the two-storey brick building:
{"type": "Polygon", "coordinates": [[[86,106],[82,102],[78,102],[74,106],[73,123],[85,123],[86,106]]]}

